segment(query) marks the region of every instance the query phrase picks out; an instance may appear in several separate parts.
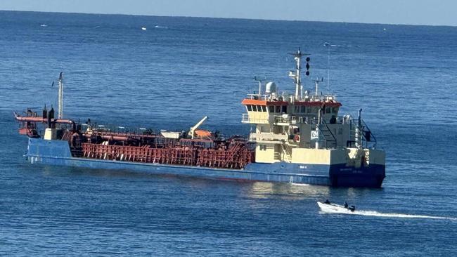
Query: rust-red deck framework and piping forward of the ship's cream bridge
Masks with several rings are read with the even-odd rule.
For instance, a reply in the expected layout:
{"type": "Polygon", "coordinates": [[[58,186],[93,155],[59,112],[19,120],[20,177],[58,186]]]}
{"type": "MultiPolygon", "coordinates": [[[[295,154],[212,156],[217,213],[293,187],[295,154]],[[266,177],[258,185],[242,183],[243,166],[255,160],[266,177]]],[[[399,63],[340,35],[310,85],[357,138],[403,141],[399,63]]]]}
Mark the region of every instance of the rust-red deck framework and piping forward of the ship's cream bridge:
{"type": "Polygon", "coordinates": [[[53,111],[51,115],[44,111],[42,117],[31,111],[15,117],[22,123],[20,133],[30,137],[39,137],[39,124],[60,131],[56,140],[68,141],[73,157],[220,169],[243,169],[255,162],[255,151],[240,136],[223,139],[204,131],[202,136],[182,133],[169,138],[162,133],[121,133],[92,127],[83,130],[70,119],[54,119],[53,111]]]}

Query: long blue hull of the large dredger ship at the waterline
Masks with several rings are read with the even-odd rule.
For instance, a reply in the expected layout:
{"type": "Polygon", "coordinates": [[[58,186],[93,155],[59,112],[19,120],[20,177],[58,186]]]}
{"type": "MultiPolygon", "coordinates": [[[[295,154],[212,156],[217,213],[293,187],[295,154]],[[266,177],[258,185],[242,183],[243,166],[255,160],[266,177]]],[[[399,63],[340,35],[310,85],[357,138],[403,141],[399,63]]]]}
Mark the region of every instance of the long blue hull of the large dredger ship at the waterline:
{"type": "Polygon", "coordinates": [[[245,169],[214,169],[201,166],[150,164],[105,159],[72,157],[68,143],[63,140],[29,138],[27,159],[32,164],[76,166],[91,169],[123,169],[141,173],[170,174],[200,178],[255,180],[279,183],[303,183],[344,187],[380,187],[384,167],[370,166],[351,169],[344,164],[247,164],[245,169]]]}

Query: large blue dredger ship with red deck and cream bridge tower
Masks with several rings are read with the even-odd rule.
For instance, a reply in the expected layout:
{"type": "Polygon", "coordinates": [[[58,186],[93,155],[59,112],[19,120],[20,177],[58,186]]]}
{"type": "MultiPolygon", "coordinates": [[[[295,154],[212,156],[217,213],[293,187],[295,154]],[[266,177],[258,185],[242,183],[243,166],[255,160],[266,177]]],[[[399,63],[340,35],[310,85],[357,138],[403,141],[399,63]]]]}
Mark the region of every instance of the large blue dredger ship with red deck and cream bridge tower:
{"type": "MultiPolygon", "coordinates": [[[[339,116],[335,95],[303,92],[300,49],[292,53],[296,68],[288,77],[295,94],[279,92],[274,82],[259,80],[259,91],[242,100],[249,136],[223,138],[199,129],[140,130],[132,133],[88,120],[63,118],[63,77],[58,80],[58,113],[32,110],[15,113],[19,132],[27,135],[32,164],[124,169],[202,178],[305,183],[340,187],[380,187],[385,178],[385,152],[361,119],[339,116]],[[44,135],[40,134],[44,131],[44,135]]],[[[306,59],[309,75],[309,57],[306,59]]]]}

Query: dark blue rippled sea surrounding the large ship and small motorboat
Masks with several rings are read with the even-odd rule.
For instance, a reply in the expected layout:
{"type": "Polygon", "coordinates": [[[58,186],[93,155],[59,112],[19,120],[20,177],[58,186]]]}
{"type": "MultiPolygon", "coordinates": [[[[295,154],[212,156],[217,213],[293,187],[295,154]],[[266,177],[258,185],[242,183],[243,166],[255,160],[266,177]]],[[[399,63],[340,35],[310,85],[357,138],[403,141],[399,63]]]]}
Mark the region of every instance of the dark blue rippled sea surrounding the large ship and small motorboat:
{"type": "Polygon", "coordinates": [[[0,11],[0,256],[456,256],[457,27],[0,11]],[[47,26],[41,26],[47,25],[47,26]],[[142,30],[141,27],[147,27],[142,30]],[[155,27],[159,26],[159,27],[155,27]],[[329,42],[328,48],[323,46],[329,42]],[[387,152],[381,189],[28,164],[13,111],[247,134],[255,75],[292,92],[311,53],[387,152]],[[320,213],[316,201],[366,215],[320,213]]]}

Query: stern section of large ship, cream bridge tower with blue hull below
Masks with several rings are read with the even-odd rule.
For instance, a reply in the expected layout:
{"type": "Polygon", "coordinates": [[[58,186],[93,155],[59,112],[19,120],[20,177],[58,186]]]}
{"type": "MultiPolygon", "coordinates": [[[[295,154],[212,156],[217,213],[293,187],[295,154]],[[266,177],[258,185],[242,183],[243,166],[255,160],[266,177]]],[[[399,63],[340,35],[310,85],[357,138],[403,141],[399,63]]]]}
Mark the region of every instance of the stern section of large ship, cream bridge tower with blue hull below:
{"type": "MultiPolygon", "coordinates": [[[[376,139],[361,119],[339,116],[342,104],[336,95],[318,91],[316,79],[313,93],[303,91],[300,78],[301,60],[306,54],[300,49],[292,53],[296,70],[289,72],[295,82],[295,94],[278,92],[276,84],[259,84],[259,91],[243,100],[247,114],[243,123],[255,126],[250,133],[254,142],[257,164],[262,169],[292,173],[326,174],[322,180],[330,185],[380,186],[385,178],[385,152],[376,149],[376,139]]],[[[309,57],[307,70],[309,69],[309,57]]],[[[307,71],[306,74],[309,74],[307,71]]],[[[261,83],[261,82],[259,82],[261,83]]],[[[319,180],[318,176],[309,177],[319,180]]],[[[313,183],[313,182],[310,182],[313,183]]]]}

